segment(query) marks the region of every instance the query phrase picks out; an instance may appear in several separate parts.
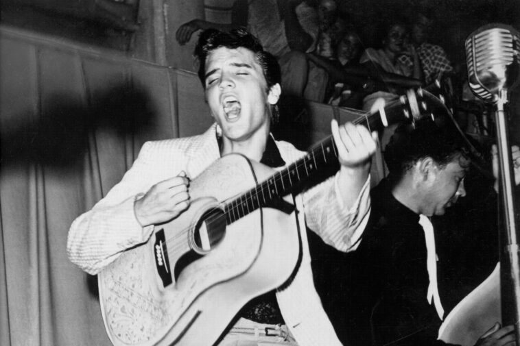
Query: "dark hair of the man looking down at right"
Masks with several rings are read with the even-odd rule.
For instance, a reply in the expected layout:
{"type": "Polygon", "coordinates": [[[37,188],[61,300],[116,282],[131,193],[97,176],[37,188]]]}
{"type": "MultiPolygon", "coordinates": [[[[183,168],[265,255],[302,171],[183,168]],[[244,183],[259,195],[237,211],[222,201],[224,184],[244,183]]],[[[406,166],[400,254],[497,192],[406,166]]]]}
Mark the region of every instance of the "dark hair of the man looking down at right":
{"type": "Polygon", "coordinates": [[[440,166],[446,166],[458,156],[469,158],[464,138],[453,123],[438,125],[422,120],[412,125],[397,127],[385,147],[384,158],[390,176],[399,179],[423,158],[432,158],[440,166]]]}

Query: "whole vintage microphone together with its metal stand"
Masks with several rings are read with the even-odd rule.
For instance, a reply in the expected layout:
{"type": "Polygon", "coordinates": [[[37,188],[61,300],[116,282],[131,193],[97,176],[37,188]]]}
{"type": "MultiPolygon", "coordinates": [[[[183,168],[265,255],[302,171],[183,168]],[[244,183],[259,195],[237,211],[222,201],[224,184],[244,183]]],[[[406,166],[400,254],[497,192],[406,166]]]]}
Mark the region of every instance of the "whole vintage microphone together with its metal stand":
{"type": "Polygon", "coordinates": [[[503,227],[500,234],[502,325],[515,324],[520,341],[520,260],[519,220],[515,216],[515,174],[509,144],[504,105],[508,92],[519,82],[520,35],[502,24],[480,27],[466,39],[469,86],[473,94],[489,103],[497,103],[495,127],[499,157],[499,186],[503,227]]]}

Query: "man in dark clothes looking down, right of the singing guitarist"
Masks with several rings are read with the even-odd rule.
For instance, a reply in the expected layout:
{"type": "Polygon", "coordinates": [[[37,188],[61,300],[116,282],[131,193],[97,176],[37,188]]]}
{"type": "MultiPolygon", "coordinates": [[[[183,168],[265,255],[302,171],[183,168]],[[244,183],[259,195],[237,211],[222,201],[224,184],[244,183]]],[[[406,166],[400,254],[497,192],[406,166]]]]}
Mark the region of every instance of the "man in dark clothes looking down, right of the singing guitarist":
{"type": "MultiPolygon", "coordinates": [[[[520,158],[518,147],[512,156],[520,158]]],[[[324,275],[341,277],[342,286],[333,289],[339,298],[322,297],[324,306],[341,302],[331,319],[348,345],[442,345],[436,340],[442,319],[498,260],[493,182],[477,185],[464,217],[440,217],[466,195],[470,158],[456,129],[433,121],[413,130],[400,125],[385,160],[390,175],[371,192],[359,248],[348,256],[328,251],[333,262],[324,275]]],[[[515,175],[518,183],[520,169],[515,175]]],[[[330,283],[324,285],[322,291],[331,290],[330,283]]],[[[505,345],[514,340],[511,331],[495,326],[477,345],[505,345]]]]}

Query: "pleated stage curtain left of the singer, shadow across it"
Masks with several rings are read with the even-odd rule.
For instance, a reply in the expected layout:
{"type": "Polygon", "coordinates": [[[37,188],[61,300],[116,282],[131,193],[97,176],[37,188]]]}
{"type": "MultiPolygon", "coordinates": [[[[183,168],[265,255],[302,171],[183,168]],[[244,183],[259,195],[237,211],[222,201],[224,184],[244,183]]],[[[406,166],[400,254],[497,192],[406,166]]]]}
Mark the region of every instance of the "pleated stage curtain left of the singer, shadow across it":
{"type": "Polygon", "coordinates": [[[69,226],[145,140],[211,124],[202,88],[193,73],[6,27],[0,75],[0,345],[111,345],[96,277],[67,258],[69,226]]]}

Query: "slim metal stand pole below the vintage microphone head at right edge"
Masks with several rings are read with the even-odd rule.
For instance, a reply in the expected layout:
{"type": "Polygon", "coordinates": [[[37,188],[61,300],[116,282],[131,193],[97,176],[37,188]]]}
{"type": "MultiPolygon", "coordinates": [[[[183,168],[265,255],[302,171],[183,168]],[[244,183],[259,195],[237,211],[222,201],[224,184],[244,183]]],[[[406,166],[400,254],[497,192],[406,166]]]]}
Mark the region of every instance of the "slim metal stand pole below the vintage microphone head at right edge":
{"type": "Polygon", "coordinates": [[[515,336],[520,341],[520,256],[518,244],[518,220],[515,215],[515,173],[512,167],[512,156],[509,144],[504,104],[508,102],[507,89],[500,88],[495,127],[499,159],[499,206],[502,213],[500,230],[500,262],[501,262],[501,309],[502,325],[515,325],[515,336]],[[504,299],[508,297],[512,301],[504,299]]]}

